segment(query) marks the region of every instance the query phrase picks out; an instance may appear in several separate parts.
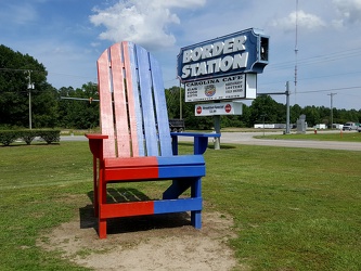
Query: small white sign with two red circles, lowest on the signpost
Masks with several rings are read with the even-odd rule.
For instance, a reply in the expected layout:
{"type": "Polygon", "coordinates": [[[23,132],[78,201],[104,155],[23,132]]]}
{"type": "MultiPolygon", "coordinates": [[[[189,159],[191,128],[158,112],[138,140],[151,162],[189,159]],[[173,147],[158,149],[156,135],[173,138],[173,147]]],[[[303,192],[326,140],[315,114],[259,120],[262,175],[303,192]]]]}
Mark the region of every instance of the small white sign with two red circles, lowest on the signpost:
{"type": "Polygon", "coordinates": [[[194,107],[195,116],[215,116],[215,115],[242,115],[242,103],[225,102],[196,104],[194,107]]]}

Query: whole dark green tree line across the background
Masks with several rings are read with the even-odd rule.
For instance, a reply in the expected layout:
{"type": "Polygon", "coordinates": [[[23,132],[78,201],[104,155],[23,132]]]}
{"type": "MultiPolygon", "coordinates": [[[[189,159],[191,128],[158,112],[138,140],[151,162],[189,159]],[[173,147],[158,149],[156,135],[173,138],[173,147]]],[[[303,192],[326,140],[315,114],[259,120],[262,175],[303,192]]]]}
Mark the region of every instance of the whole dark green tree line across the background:
{"type": "MultiPolygon", "coordinates": [[[[93,129],[99,126],[98,87],[87,82],[81,88],[56,89],[47,81],[46,67],[28,54],[14,52],[0,46],[0,129],[29,127],[29,92],[31,98],[31,125],[34,128],[93,129]],[[29,83],[34,83],[33,89],[29,83]],[[77,98],[83,100],[67,100],[77,98]]],[[[169,118],[184,119],[188,129],[210,129],[211,117],[195,117],[194,103],[184,102],[184,89],[166,89],[169,118]],[[180,93],[181,91],[181,93],[180,93]]],[[[306,115],[309,126],[331,124],[331,108],[324,106],[291,106],[291,122],[306,115]]],[[[260,95],[243,115],[222,116],[221,127],[253,127],[255,124],[285,124],[286,105],[270,95],[260,95]]],[[[333,122],[361,122],[361,109],[333,109],[333,122]]]]}

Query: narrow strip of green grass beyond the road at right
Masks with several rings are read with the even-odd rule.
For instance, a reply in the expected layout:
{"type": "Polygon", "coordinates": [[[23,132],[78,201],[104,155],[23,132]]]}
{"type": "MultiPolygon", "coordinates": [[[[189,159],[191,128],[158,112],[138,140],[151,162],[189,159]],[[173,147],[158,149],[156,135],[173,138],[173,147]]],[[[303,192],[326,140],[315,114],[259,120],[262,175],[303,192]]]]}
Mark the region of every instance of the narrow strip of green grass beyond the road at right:
{"type": "Polygon", "coordinates": [[[332,133],[289,133],[289,134],[271,134],[257,136],[258,139],[274,139],[274,140],[317,140],[317,141],[345,141],[345,142],[361,142],[361,132],[335,131],[332,133]]]}

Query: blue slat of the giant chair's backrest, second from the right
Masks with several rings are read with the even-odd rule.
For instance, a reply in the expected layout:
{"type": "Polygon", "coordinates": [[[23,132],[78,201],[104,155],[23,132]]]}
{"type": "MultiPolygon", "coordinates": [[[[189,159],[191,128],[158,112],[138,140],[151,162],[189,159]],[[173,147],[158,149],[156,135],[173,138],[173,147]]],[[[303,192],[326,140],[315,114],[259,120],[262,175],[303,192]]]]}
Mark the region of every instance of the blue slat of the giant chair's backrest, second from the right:
{"type": "Polygon", "coordinates": [[[143,113],[143,125],[144,125],[144,136],[146,154],[150,156],[159,155],[158,152],[158,139],[156,131],[156,122],[154,116],[154,104],[152,95],[152,77],[151,77],[151,66],[149,61],[149,53],[145,49],[136,46],[137,50],[137,61],[138,61],[138,75],[141,92],[141,103],[143,113]]]}

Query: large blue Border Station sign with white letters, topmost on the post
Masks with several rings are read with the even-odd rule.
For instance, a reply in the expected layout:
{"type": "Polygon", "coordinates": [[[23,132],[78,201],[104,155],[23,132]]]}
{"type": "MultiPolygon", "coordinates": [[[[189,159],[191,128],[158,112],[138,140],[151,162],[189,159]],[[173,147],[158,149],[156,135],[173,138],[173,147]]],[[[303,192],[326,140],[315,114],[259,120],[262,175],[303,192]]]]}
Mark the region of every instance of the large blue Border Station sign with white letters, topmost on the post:
{"type": "Polygon", "coordinates": [[[269,37],[249,28],[181,48],[178,77],[182,82],[243,73],[262,73],[268,64],[269,37]]]}

